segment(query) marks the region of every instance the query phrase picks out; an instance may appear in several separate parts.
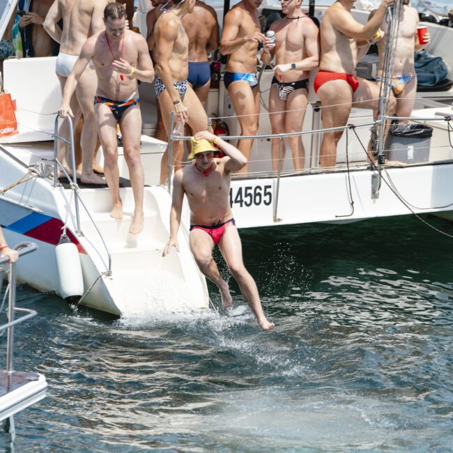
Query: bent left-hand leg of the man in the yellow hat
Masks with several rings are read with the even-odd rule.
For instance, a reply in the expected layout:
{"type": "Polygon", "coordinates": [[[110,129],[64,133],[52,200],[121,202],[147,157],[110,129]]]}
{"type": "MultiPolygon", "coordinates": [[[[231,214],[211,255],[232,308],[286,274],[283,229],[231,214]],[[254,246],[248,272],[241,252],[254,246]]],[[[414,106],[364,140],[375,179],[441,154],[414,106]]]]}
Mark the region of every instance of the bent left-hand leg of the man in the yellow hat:
{"type": "Polygon", "coordinates": [[[217,285],[222,297],[222,305],[230,307],[231,294],[227,282],[220,275],[219,268],[213,259],[214,241],[206,231],[193,229],[189,234],[190,251],[203,275],[210,279],[213,284],[217,285]]]}

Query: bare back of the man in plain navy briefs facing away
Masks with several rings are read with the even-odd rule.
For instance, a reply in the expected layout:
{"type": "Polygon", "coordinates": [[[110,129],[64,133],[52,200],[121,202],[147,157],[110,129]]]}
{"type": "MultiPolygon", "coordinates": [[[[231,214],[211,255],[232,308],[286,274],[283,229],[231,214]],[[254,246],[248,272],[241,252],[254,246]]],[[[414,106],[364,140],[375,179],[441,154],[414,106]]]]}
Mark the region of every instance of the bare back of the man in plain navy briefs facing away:
{"type": "Polygon", "coordinates": [[[219,26],[215,9],[204,1],[197,1],[192,13],[184,16],[183,26],[189,38],[189,61],[208,61],[206,52],[218,47],[219,26]]]}

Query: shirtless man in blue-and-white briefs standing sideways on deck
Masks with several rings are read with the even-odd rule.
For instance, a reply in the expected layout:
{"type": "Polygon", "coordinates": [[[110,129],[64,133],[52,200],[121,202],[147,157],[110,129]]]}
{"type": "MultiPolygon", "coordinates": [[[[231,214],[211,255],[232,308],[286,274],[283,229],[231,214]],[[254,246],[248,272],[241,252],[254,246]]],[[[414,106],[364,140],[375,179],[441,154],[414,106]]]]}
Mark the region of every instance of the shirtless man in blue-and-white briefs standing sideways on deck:
{"type": "MultiPolygon", "coordinates": [[[[259,86],[256,79],[256,50],[259,43],[264,49],[272,43],[261,33],[258,8],[263,0],[243,0],[225,15],[220,53],[228,55],[227,72],[224,75],[225,88],[233,100],[238,116],[240,135],[256,135],[259,125],[259,86]]],[[[240,139],[238,149],[247,164],[240,172],[247,172],[252,151],[252,139],[240,139]]]]}

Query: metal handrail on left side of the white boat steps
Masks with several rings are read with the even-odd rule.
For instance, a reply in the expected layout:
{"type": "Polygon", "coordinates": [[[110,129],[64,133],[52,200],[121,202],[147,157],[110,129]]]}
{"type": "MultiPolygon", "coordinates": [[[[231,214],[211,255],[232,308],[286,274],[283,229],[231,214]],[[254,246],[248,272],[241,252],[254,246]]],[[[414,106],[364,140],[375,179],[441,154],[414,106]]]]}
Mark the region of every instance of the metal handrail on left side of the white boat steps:
{"type": "MultiPolygon", "coordinates": [[[[89,216],[91,222],[93,223],[95,230],[98,231],[100,240],[102,240],[102,245],[104,245],[105,251],[107,252],[107,257],[109,260],[109,266],[107,269],[107,275],[112,275],[112,254],[110,253],[109,247],[107,247],[107,243],[105,242],[104,237],[102,236],[102,233],[98,229],[98,225],[96,225],[95,221],[93,220],[93,217],[91,217],[91,214],[84,204],[84,201],[82,198],[79,197],[79,185],[77,184],[77,174],[75,171],[75,151],[74,151],[74,132],[72,130],[72,119],[70,116],[66,116],[66,119],[68,119],[69,123],[69,129],[70,129],[70,141],[66,140],[63,137],[60,137],[58,135],[58,121],[60,118],[60,114],[56,114],[55,118],[55,130],[54,130],[54,138],[63,141],[64,143],[70,145],[71,147],[71,167],[72,167],[72,183],[70,184],[71,189],[74,190],[75,197],[74,197],[74,203],[75,203],[75,217],[76,217],[76,224],[77,224],[77,235],[82,236],[82,230],[80,229],[80,213],[79,213],[79,201],[84,207],[84,210],[86,214],[89,216]]],[[[68,172],[66,169],[63,167],[63,164],[58,160],[56,157],[57,155],[57,141],[54,140],[54,187],[58,185],[58,171],[57,168],[58,166],[61,168],[63,173],[65,174],[66,178],[68,178],[68,181],[71,181],[70,176],[68,175],[68,172]]]]}

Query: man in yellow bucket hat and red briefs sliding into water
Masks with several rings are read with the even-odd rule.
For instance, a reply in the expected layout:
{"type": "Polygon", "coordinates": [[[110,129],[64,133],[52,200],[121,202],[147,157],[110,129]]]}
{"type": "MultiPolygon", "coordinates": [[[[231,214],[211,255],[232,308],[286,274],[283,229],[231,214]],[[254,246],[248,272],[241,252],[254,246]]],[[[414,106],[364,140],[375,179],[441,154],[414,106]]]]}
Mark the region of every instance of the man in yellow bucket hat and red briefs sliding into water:
{"type": "Polygon", "coordinates": [[[201,272],[220,289],[223,306],[231,306],[228,284],[222,279],[213,259],[213,249],[217,244],[259,325],[263,330],[270,330],[274,324],[266,319],[256,283],[244,266],[242,245],[229,204],[231,172],[244,167],[247,159],[237,148],[208,131],[195,134],[191,144],[189,158],[193,162],[176,171],[174,176],[170,238],[163,256],[169,254],[172,247],[178,250],[178,229],[185,194],[190,208],[190,250],[201,272]],[[218,152],[214,145],[222,149],[224,158],[214,158],[218,152]]]}

